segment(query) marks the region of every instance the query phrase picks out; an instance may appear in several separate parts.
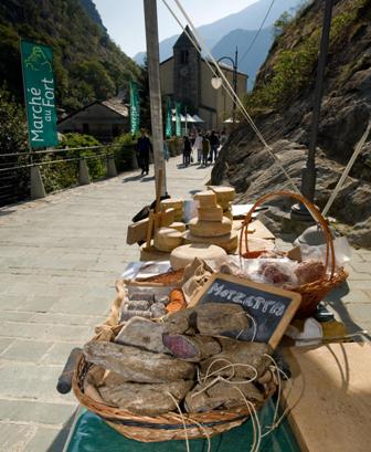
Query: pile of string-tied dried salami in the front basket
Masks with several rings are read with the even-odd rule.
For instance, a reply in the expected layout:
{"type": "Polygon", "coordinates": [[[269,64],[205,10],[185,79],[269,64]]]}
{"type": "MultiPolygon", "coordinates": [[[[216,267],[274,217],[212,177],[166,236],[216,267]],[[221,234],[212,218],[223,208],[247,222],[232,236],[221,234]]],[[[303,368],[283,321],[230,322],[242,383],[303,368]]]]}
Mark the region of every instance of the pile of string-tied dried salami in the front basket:
{"type": "Polygon", "coordinates": [[[153,322],[130,318],[114,341],[84,347],[84,391],[140,416],[225,410],[264,401],[269,347],[234,337],[248,327],[236,304],[200,304],[153,322]]]}

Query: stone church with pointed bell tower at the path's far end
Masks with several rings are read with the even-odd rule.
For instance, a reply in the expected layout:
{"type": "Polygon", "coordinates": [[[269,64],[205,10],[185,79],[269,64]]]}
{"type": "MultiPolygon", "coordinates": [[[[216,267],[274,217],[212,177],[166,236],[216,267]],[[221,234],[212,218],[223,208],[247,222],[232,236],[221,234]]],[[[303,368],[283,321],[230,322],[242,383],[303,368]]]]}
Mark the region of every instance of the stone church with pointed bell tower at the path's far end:
{"type": "MultiPolygon", "coordinates": [[[[190,29],[187,31],[192,35],[190,29]]],[[[193,35],[192,35],[193,36],[193,35]]],[[[192,38],[193,39],[193,38],[192,38]]],[[[195,42],[195,39],[193,39],[195,42]]],[[[213,76],[204,57],[200,55],[188,35],[183,32],[173,45],[173,55],[160,64],[161,94],[180,102],[191,115],[198,114],[204,129],[222,129],[223,122],[232,117],[233,102],[223,87],[215,90],[211,85],[213,76]]],[[[234,57],[234,55],[225,55],[234,57]]],[[[224,75],[233,86],[233,67],[220,64],[224,75]]],[[[237,95],[246,93],[247,75],[237,72],[237,95]]]]}

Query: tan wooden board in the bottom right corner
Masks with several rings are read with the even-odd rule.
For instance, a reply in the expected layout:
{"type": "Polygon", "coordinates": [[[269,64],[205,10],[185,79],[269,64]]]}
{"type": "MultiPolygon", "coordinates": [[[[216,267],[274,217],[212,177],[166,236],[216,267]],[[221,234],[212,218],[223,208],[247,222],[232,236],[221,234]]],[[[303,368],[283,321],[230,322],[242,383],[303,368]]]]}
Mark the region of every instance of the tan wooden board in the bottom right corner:
{"type": "MultiPolygon", "coordinates": [[[[371,450],[371,345],[289,348],[289,421],[303,451],[371,450]]],[[[287,401],[287,388],[284,398],[287,401]]]]}

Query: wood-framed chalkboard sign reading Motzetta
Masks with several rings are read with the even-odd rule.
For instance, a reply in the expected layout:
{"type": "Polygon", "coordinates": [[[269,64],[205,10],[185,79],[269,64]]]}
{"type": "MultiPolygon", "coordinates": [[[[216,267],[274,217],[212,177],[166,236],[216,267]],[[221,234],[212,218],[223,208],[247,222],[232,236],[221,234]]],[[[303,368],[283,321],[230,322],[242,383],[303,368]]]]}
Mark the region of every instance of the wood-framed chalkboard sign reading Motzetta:
{"type": "Polygon", "coordinates": [[[251,326],[239,338],[252,340],[255,336],[255,341],[266,343],[275,348],[299,307],[300,301],[301,296],[295,292],[215,273],[202,287],[193,303],[240,304],[254,318],[256,328],[251,326]]]}

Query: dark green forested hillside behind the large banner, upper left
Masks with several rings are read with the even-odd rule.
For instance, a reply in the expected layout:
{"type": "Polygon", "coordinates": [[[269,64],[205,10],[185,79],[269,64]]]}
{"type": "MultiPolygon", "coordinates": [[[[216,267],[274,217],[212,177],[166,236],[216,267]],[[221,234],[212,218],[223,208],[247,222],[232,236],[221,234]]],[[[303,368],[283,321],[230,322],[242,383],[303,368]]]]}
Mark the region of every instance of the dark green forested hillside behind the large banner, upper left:
{"type": "Polygon", "coordinates": [[[0,84],[18,101],[20,38],[53,48],[57,105],[67,113],[115,95],[140,73],[110,40],[92,0],[1,0],[0,84]]]}

